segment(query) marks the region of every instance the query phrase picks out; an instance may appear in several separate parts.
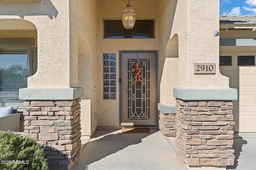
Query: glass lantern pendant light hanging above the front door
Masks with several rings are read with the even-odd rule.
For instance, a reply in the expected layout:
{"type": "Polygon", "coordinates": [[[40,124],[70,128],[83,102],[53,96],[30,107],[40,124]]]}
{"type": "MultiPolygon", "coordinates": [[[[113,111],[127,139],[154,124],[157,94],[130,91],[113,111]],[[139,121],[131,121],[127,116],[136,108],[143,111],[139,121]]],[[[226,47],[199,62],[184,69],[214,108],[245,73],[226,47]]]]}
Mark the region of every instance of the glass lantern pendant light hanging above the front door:
{"type": "Polygon", "coordinates": [[[128,4],[122,13],[122,23],[125,29],[132,29],[136,20],[134,9],[130,6],[131,5],[129,4],[128,0],[128,4]]]}

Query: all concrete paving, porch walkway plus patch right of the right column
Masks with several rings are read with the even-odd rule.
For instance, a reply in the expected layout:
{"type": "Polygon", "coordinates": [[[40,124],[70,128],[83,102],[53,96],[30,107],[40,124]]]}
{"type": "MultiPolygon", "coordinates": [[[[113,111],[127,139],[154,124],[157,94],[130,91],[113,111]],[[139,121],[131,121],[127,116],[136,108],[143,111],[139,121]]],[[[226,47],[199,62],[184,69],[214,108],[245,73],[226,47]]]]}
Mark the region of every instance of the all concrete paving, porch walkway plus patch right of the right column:
{"type": "MultiPolygon", "coordinates": [[[[71,170],[188,170],[172,148],[175,138],[166,138],[158,129],[150,131],[97,129],[92,139],[82,140],[85,147],[71,170]]],[[[235,133],[233,149],[236,158],[228,170],[256,169],[256,133],[235,133]]]]}

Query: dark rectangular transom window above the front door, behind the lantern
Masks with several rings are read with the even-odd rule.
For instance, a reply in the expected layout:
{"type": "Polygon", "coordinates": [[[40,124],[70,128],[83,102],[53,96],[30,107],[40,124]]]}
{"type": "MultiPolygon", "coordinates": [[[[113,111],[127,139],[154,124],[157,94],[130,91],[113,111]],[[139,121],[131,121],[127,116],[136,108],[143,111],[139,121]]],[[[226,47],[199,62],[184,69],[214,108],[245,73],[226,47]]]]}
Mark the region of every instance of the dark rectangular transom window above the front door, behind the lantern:
{"type": "Polygon", "coordinates": [[[104,38],[154,38],[155,20],[136,20],[133,29],[125,29],[122,20],[104,20],[104,38]]]}

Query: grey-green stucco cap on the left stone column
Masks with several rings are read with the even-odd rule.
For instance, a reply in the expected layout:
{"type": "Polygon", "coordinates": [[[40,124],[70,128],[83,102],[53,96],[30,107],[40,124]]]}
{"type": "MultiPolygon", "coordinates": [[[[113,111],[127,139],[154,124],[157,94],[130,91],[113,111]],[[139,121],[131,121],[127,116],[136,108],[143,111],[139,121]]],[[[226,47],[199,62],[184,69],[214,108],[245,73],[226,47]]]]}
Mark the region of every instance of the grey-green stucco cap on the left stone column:
{"type": "Polygon", "coordinates": [[[20,100],[74,100],[84,96],[84,89],[74,88],[21,88],[20,100]]]}

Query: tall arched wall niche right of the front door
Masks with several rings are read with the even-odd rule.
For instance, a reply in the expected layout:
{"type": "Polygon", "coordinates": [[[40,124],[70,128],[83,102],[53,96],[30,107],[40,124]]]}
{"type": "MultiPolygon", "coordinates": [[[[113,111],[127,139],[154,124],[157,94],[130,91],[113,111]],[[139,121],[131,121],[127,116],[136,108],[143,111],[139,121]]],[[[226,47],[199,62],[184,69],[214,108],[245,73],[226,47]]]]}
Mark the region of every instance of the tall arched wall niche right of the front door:
{"type": "Polygon", "coordinates": [[[166,58],[160,83],[160,103],[175,106],[172,89],[178,87],[178,35],[174,34],[166,46],[166,58]]]}

